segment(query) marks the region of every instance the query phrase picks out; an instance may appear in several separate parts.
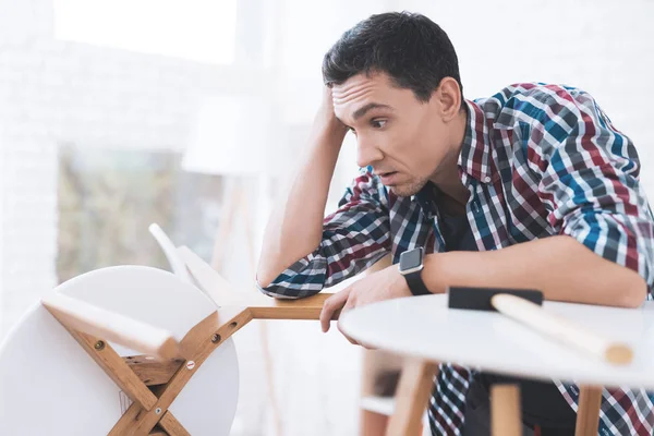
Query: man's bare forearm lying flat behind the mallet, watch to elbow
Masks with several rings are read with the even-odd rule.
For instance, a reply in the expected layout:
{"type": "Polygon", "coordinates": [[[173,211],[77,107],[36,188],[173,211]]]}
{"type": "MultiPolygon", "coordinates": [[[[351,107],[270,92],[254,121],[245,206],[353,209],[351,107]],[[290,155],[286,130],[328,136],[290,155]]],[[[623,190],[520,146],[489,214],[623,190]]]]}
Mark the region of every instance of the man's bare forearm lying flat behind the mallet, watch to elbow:
{"type": "Polygon", "coordinates": [[[530,288],[546,300],[634,307],[646,296],[635,271],[606,261],[573,238],[550,237],[492,252],[449,252],[425,257],[432,292],[448,286],[530,288]]]}

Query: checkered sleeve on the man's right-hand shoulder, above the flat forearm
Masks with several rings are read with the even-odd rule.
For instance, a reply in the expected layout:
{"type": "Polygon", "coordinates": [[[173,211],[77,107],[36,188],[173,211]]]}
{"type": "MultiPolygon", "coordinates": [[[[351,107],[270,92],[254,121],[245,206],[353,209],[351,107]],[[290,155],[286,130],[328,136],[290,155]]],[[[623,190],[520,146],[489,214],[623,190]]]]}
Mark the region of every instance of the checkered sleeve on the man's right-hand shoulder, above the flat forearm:
{"type": "Polygon", "coordinates": [[[548,99],[547,117],[532,125],[540,145],[531,160],[544,169],[538,190],[550,225],[639,272],[652,292],[654,226],[632,142],[589,94],[554,88],[548,99]]]}

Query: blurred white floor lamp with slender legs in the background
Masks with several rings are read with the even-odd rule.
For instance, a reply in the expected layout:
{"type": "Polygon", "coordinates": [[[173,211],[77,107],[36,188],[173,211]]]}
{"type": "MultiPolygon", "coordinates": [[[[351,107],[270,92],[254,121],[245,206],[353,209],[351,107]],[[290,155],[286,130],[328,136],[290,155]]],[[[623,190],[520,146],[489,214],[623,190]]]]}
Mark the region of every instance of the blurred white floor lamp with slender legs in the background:
{"type": "MultiPolygon", "coordinates": [[[[244,239],[246,270],[254,281],[256,270],[256,238],[254,218],[257,209],[258,182],[264,173],[265,146],[270,142],[269,106],[250,96],[214,96],[201,101],[182,159],[182,169],[189,172],[220,175],[222,204],[211,266],[220,270],[226,263],[226,251],[239,229],[244,239]]],[[[272,405],[277,436],[282,436],[280,410],[276,400],[274,371],[268,341],[267,324],[259,322],[265,371],[272,405]]]]}

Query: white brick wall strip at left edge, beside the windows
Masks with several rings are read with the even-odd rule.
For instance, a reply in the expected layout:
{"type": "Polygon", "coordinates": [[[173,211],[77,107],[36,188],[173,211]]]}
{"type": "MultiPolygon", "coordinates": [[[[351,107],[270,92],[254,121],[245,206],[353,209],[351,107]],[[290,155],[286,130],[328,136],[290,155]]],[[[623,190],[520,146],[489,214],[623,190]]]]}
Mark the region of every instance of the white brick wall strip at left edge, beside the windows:
{"type": "Polygon", "coordinates": [[[38,99],[44,88],[37,78],[43,58],[29,52],[50,31],[47,7],[0,2],[3,327],[55,278],[55,148],[43,117],[29,110],[36,106],[29,99],[38,99]],[[32,177],[35,173],[38,177],[32,177]]]}

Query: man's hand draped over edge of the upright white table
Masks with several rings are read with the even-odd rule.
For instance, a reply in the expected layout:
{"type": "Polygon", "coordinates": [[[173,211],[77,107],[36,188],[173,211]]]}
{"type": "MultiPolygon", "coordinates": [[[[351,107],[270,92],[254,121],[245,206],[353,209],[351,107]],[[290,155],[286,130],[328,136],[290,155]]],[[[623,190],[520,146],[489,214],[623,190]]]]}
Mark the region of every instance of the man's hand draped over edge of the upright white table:
{"type": "MultiPolygon", "coordinates": [[[[397,265],[391,265],[377,272],[373,272],[325,300],[323,312],[320,313],[323,331],[327,332],[329,330],[331,317],[339,310],[341,310],[342,314],[354,307],[401,296],[411,296],[411,291],[397,265]]],[[[343,336],[350,342],[358,343],[353,339],[348,338],[347,335],[343,334],[343,336]]]]}

